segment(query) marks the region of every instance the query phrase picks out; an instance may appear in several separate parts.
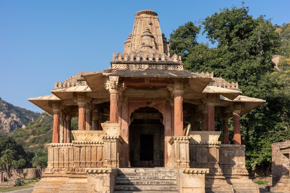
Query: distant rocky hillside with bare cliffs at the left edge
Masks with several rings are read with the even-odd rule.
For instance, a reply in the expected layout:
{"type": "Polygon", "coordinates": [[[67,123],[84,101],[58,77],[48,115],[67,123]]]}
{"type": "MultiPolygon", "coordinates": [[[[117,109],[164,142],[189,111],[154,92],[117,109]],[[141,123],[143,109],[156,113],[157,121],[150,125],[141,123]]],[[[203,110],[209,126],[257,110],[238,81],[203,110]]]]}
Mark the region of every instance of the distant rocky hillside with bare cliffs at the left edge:
{"type": "Polygon", "coordinates": [[[40,113],[10,104],[0,97],[0,135],[9,135],[15,128],[23,128],[37,120],[40,113]]]}

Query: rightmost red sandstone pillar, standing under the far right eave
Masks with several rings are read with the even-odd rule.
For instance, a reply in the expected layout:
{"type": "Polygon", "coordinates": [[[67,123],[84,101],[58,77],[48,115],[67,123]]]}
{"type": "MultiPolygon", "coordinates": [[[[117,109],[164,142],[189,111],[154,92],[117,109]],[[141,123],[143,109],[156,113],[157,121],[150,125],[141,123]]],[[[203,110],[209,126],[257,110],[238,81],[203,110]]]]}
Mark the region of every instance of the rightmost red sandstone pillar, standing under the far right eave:
{"type": "Polygon", "coordinates": [[[233,118],[234,118],[234,144],[241,144],[241,127],[240,127],[240,113],[243,106],[241,104],[235,104],[233,110],[233,118]]]}

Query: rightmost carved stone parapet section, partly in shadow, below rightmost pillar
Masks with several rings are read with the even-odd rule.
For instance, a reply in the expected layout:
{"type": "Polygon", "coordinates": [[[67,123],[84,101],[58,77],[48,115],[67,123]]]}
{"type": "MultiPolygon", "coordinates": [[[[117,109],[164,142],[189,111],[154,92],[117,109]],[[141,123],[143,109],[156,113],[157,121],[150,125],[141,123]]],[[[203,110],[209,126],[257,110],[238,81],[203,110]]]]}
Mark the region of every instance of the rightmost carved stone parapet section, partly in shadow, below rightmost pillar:
{"type": "Polygon", "coordinates": [[[245,146],[220,144],[220,168],[224,175],[248,175],[245,165],[245,146]]]}

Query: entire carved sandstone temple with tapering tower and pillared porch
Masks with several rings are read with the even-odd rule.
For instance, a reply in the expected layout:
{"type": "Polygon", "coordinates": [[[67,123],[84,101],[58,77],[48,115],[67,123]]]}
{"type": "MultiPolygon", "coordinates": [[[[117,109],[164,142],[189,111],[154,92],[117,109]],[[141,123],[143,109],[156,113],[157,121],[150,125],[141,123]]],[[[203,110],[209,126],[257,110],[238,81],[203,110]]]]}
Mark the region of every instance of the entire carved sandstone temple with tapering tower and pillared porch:
{"type": "Polygon", "coordinates": [[[28,99],[54,117],[33,192],[259,192],[247,176],[240,116],[265,101],[213,73],[184,70],[152,10],[136,13],[124,44],[109,69],[79,72],[55,82],[52,95],[28,99]]]}

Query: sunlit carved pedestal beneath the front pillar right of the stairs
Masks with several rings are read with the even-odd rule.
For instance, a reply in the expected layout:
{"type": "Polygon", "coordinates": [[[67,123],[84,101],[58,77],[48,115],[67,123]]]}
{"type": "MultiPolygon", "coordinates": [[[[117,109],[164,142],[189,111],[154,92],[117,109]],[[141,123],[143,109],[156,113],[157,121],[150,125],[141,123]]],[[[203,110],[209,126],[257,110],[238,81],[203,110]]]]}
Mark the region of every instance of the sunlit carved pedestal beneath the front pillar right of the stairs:
{"type": "Polygon", "coordinates": [[[169,139],[173,152],[174,168],[189,168],[189,139],[188,136],[173,136],[169,139]]]}

